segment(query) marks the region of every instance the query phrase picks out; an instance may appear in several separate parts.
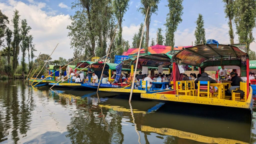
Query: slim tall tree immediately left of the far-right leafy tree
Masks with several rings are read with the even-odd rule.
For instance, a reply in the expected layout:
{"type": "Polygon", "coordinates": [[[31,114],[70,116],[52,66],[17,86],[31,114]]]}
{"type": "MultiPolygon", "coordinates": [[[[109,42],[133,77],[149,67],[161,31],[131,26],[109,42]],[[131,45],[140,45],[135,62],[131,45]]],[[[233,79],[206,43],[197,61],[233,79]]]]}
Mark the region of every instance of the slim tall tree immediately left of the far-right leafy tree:
{"type": "Polygon", "coordinates": [[[225,10],[224,12],[226,13],[226,18],[229,19],[228,26],[229,26],[229,39],[230,39],[230,44],[234,44],[234,33],[233,33],[233,27],[232,27],[232,20],[234,18],[234,0],[223,0],[225,3],[225,10]]]}

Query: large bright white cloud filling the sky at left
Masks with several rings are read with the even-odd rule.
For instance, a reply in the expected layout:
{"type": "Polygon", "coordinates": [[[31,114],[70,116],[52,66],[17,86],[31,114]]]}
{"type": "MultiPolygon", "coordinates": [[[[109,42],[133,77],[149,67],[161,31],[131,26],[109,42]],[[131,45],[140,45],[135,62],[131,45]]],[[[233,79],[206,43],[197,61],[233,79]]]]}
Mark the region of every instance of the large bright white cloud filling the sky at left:
{"type": "Polygon", "coordinates": [[[67,25],[71,24],[69,15],[50,16],[48,12],[41,9],[46,7],[45,3],[25,4],[20,1],[10,0],[8,3],[0,3],[2,13],[8,16],[11,30],[11,23],[14,9],[19,11],[20,19],[27,19],[28,25],[31,27],[30,33],[33,35],[33,43],[36,45],[38,55],[51,54],[57,43],[59,43],[55,52],[52,54],[52,59],[64,57],[66,59],[73,57],[73,50],[70,49],[69,38],[67,37],[69,30],[67,25]]]}

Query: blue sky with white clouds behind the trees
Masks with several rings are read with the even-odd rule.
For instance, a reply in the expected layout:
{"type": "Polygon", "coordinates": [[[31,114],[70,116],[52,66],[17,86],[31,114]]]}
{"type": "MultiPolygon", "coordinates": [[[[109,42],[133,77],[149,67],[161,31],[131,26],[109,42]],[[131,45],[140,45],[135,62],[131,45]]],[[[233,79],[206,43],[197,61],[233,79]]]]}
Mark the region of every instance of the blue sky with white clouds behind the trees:
{"type": "MultiPolygon", "coordinates": [[[[73,57],[70,38],[67,36],[69,32],[67,26],[71,24],[69,18],[75,13],[75,9],[71,9],[72,2],[68,0],[0,0],[0,9],[9,17],[10,24],[8,26],[11,30],[13,30],[11,19],[15,9],[19,11],[20,19],[27,19],[27,23],[31,27],[29,34],[34,37],[36,55],[40,52],[50,55],[59,43],[52,54],[52,59],[59,57],[69,59],[73,57]]],[[[163,35],[165,34],[164,24],[169,11],[166,5],[168,5],[167,0],[160,0],[157,14],[151,16],[149,45],[151,38],[156,39],[157,28],[162,28],[163,35]]],[[[140,24],[144,23],[145,17],[138,11],[140,7],[140,0],[130,0],[129,9],[123,18],[122,35],[125,40],[129,40],[130,45],[134,33],[138,33],[140,24]]],[[[175,33],[175,46],[188,46],[195,42],[195,21],[199,13],[204,17],[206,39],[215,39],[220,44],[229,44],[229,27],[222,0],[184,0],[183,7],[182,22],[175,33]]],[[[233,27],[235,28],[235,26],[233,27]]],[[[253,36],[256,37],[255,29],[253,36]]],[[[237,35],[235,35],[234,43],[238,43],[237,35]]],[[[255,42],[250,45],[250,48],[256,51],[255,42]]]]}

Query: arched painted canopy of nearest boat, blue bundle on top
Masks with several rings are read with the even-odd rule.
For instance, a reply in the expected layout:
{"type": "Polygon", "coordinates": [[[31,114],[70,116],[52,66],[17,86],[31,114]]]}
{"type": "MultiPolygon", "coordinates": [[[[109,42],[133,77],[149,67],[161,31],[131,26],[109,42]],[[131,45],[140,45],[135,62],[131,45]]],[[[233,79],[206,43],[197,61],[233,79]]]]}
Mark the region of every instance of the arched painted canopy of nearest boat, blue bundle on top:
{"type": "MultiPolygon", "coordinates": [[[[201,44],[193,47],[183,48],[172,57],[172,61],[179,64],[205,67],[207,61],[219,61],[211,66],[220,66],[224,60],[239,60],[243,56],[249,57],[246,52],[232,45],[222,44],[201,44]]],[[[230,64],[229,64],[230,65],[230,64]]]]}

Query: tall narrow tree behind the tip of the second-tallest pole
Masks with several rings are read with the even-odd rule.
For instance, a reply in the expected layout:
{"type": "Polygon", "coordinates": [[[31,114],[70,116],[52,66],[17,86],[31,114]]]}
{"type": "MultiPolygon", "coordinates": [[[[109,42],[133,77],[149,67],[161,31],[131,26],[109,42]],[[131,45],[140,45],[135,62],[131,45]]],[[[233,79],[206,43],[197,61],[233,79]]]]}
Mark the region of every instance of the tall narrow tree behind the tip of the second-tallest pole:
{"type": "Polygon", "coordinates": [[[129,0],[113,0],[113,10],[116,19],[119,19],[119,32],[117,40],[117,46],[120,47],[122,44],[122,22],[123,17],[127,9],[129,8],[129,0]]]}

